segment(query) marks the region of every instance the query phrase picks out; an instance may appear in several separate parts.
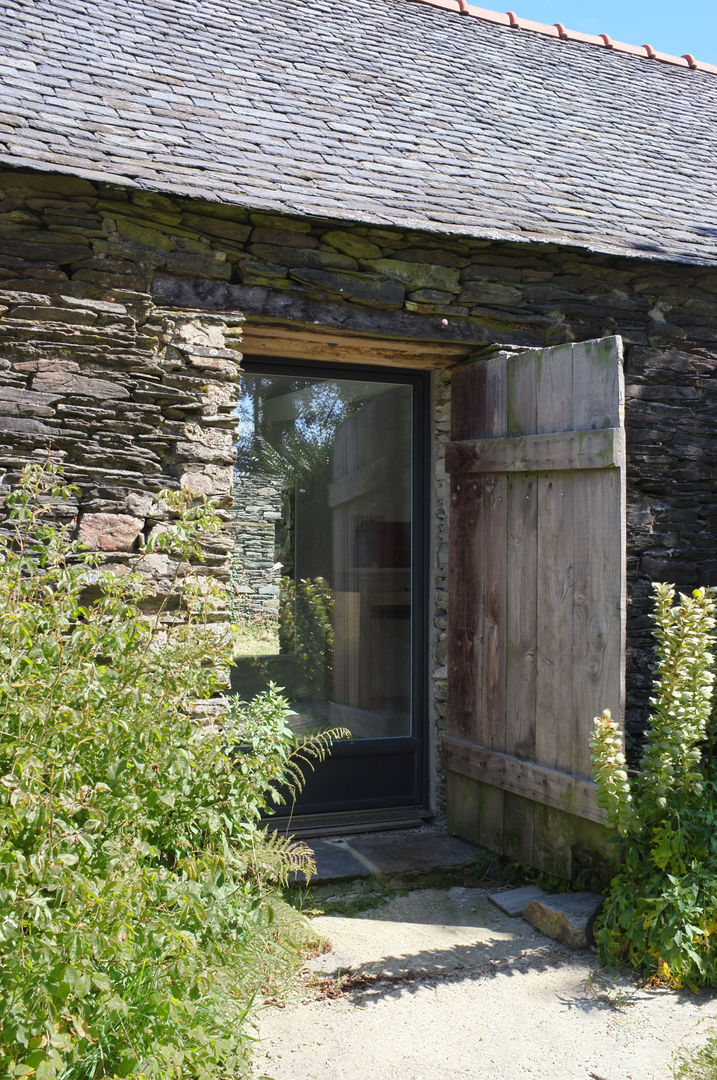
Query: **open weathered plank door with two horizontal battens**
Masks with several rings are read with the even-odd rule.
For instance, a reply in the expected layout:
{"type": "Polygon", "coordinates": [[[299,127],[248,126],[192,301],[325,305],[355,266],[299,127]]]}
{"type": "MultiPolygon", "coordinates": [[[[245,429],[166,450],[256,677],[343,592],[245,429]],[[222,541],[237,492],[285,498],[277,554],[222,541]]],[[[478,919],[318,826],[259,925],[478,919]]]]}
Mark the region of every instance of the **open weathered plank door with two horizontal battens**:
{"type": "Polygon", "coordinates": [[[449,818],[569,873],[603,839],[592,718],[623,708],[620,339],[459,368],[451,433],[449,818]]]}

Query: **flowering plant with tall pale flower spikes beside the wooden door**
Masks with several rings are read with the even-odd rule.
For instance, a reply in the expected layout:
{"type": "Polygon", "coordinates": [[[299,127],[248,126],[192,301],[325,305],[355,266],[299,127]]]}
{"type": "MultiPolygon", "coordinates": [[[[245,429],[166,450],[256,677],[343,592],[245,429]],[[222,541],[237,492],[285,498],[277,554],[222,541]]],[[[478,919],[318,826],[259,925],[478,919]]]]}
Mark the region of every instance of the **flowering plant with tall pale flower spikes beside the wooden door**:
{"type": "Polygon", "coordinates": [[[657,584],[658,674],[640,766],[628,777],[620,732],[595,719],[599,800],[618,833],[621,868],[595,940],[673,985],[717,986],[715,603],[657,584]]]}

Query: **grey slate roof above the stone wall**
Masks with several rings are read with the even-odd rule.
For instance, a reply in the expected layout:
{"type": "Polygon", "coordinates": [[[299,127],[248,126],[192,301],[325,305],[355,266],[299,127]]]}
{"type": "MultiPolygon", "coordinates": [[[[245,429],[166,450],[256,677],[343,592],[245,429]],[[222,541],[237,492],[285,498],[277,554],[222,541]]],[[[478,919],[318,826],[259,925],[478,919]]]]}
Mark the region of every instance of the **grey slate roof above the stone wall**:
{"type": "Polygon", "coordinates": [[[3,0],[0,161],[717,264],[717,76],[457,4],[3,0]]]}

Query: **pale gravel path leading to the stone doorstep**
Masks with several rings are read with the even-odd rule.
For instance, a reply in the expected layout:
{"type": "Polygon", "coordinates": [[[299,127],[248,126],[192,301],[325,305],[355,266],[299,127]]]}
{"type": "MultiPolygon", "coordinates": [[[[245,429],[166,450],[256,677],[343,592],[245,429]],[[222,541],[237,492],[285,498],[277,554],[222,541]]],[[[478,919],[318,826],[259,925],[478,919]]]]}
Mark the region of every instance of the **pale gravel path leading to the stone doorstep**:
{"type": "Polygon", "coordinates": [[[717,997],[600,973],[483,889],[425,889],[351,918],[300,997],[261,1014],[272,1080],[669,1080],[717,1026],[717,997]]]}

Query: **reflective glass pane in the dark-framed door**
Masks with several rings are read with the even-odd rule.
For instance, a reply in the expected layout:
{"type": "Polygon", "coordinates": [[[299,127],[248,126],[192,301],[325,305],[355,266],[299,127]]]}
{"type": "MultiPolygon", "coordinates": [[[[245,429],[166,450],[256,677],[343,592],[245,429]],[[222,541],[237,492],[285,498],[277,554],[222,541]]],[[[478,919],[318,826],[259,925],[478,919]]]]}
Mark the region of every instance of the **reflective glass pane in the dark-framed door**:
{"type": "Polygon", "coordinates": [[[410,734],[411,395],[242,378],[232,687],[284,687],[297,730],[410,734]]]}

